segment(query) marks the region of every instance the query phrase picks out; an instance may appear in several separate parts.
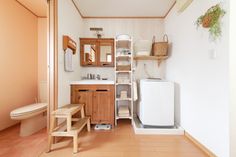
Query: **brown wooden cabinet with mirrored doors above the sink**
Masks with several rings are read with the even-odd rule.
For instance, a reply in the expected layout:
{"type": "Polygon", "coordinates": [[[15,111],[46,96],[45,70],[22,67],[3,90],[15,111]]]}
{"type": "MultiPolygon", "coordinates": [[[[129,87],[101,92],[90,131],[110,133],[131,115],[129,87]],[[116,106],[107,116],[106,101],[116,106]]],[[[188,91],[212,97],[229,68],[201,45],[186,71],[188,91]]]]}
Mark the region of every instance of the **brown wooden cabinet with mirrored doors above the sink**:
{"type": "Polygon", "coordinates": [[[80,64],[91,67],[114,67],[114,39],[80,38],[80,64]]]}

